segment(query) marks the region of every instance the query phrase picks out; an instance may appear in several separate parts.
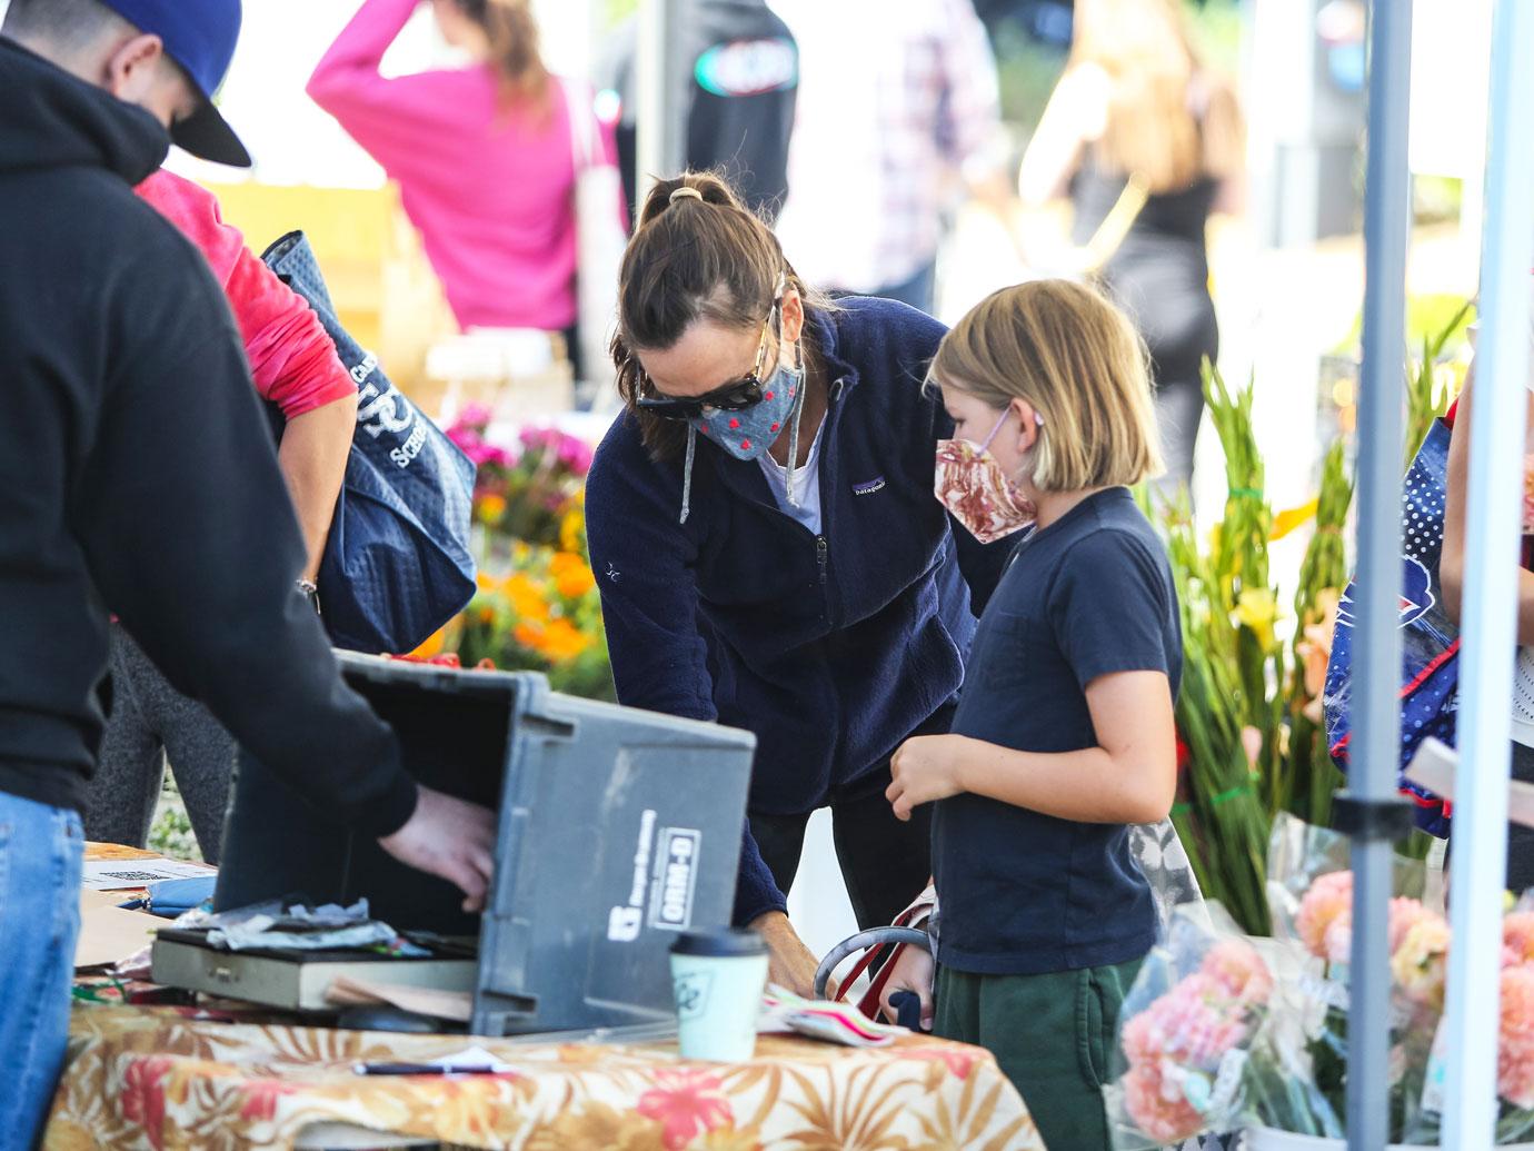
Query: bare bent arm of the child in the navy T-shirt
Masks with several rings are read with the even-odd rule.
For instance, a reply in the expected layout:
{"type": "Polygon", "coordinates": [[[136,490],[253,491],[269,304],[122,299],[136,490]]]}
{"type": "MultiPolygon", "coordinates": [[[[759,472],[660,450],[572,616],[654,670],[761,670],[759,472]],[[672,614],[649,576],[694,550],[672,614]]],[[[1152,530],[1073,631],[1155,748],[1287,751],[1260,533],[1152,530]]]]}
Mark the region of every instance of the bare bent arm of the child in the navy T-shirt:
{"type": "Polygon", "coordinates": [[[888,796],[900,820],[960,792],[1075,823],[1157,823],[1177,790],[1172,689],[1164,672],[1114,672],[1086,686],[1098,746],[1019,752],[965,735],[920,735],[894,754],[888,796]]]}

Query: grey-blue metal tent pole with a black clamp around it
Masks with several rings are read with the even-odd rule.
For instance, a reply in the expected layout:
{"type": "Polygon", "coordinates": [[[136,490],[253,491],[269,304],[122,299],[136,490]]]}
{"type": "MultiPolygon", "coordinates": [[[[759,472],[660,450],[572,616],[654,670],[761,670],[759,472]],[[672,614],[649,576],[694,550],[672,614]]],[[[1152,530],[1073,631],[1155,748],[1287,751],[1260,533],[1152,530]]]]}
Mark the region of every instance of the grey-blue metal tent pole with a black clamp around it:
{"type": "MultiPolygon", "coordinates": [[[[1364,370],[1359,394],[1358,677],[1350,789],[1338,827],[1353,835],[1353,956],[1347,1133],[1353,1151],[1384,1151],[1388,1133],[1391,839],[1401,826],[1401,457],[1405,279],[1410,239],[1407,110],[1411,5],[1373,0],[1368,169],[1364,200],[1364,370]]],[[[1410,821],[1410,815],[1407,815],[1410,821]]]]}

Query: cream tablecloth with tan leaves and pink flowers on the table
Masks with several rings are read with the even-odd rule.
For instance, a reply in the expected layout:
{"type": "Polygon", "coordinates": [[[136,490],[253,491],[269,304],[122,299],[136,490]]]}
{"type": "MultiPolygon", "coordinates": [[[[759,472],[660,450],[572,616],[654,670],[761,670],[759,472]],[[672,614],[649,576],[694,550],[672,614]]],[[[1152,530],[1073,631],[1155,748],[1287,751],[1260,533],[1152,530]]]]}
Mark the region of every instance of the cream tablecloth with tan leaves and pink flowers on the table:
{"type": "Polygon", "coordinates": [[[348,1123],[528,1151],[1043,1151],[986,1051],[927,1037],[853,1050],[762,1036],[738,1065],[684,1064],[664,1044],[472,1042],[515,1071],[367,1077],[354,1060],[422,1062],[468,1042],[80,1005],[46,1146],[282,1148],[348,1123]]]}

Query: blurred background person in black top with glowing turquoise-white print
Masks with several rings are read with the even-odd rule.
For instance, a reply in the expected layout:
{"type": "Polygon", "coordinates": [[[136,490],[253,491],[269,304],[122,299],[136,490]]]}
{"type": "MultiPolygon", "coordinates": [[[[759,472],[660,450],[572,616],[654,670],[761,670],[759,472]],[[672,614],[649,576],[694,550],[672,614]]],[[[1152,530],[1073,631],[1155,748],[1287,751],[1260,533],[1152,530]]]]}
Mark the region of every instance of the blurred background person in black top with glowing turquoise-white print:
{"type": "MultiPolygon", "coordinates": [[[[799,95],[799,46],[765,0],[693,0],[681,28],[687,69],[686,155],[718,172],[752,212],[772,221],[788,193],[788,138],[799,95]]],[[[638,196],[634,61],[638,17],[609,38],[601,83],[618,97],[618,167],[634,219],[638,196]]]]}

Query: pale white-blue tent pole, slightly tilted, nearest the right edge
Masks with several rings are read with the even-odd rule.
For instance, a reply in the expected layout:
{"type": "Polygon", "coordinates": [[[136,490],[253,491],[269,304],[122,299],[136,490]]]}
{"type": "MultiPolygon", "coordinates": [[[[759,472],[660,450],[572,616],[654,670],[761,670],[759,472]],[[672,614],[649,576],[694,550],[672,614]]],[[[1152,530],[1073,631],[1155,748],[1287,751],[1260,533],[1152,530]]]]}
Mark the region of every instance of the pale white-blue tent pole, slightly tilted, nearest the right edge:
{"type": "Polygon", "coordinates": [[[1506,869],[1517,537],[1534,259],[1534,3],[1499,0],[1491,34],[1482,336],[1470,413],[1460,612],[1459,778],[1450,867],[1448,1100],[1443,1145],[1480,1151],[1497,1120],[1497,1001],[1506,869]]]}

